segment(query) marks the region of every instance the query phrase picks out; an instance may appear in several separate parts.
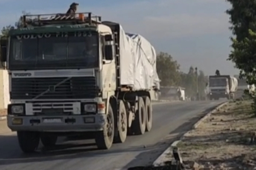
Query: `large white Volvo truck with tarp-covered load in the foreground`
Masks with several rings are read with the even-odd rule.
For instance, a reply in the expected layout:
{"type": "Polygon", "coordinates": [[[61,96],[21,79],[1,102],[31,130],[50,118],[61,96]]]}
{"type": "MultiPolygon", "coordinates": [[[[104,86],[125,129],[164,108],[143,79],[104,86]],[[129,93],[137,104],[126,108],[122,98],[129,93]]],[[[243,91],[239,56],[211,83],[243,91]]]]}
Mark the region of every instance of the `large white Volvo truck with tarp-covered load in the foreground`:
{"type": "Polygon", "coordinates": [[[152,128],[156,52],[141,35],[91,13],[25,15],[1,39],[9,72],[8,127],[23,152],[93,135],[99,149],[152,128]]]}

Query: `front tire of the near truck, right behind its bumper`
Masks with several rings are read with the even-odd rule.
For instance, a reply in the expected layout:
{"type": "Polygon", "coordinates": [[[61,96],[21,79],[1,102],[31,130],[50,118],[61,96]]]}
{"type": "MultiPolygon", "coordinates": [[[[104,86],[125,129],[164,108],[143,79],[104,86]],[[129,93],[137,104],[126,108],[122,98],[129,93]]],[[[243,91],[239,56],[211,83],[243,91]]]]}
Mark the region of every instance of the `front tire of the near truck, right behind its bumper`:
{"type": "Polygon", "coordinates": [[[114,118],[112,106],[108,105],[107,120],[103,131],[96,133],[95,142],[98,149],[110,149],[113,144],[114,118]]]}

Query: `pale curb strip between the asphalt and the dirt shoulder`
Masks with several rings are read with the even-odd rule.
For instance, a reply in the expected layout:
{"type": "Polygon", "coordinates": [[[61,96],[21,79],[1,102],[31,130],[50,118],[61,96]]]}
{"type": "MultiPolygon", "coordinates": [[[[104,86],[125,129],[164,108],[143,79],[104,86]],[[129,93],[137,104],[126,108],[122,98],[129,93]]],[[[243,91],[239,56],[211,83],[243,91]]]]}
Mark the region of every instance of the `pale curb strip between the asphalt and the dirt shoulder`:
{"type": "MultiPolygon", "coordinates": [[[[207,113],[205,116],[203,116],[199,121],[197,121],[191,130],[196,129],[197,127],[199,127],[199,125],[206,120],[206,118],[208,118],[209,116],[211,116],[212,113],[214,113],[215,111],[217,111],[219,108],[223,107],[224,105],[226,105],[229,101],[225,101],[224,103],[219,104],[218,106],[216,106],[213,110],[209,111],[209,113],[207,113]]],[[[153,166],[164,166],[165,162],[166,162],[166,157],[170,156],[172,154],[172,147],[177,146],[177,144],[179,142],[182,141],[182,139],[185,137],[185,135],[187,133],[189,133],[190,130],[188,132],[183,133],[183,135],[180,137],[180,140],[176,140],[174,141],[154,162],[153,162],[153,166]]]]}

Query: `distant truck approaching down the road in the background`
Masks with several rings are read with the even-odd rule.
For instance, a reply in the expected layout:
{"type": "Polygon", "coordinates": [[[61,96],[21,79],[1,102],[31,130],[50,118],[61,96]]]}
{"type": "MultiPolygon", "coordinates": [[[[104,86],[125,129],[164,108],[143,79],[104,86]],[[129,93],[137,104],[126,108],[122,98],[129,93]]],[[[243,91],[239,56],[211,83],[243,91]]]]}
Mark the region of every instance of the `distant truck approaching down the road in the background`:
{"type": "Polygon", "coordinates": [[[238,81],[229,75],[209,76],[209,98],[234,99],[238,89],[238,81]]]}

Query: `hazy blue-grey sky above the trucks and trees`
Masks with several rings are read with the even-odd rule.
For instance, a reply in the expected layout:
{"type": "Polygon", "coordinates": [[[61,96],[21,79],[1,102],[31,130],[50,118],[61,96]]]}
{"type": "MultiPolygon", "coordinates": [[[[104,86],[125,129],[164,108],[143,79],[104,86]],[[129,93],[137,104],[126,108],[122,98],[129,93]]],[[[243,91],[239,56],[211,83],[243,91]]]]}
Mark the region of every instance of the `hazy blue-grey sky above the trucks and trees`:
{"type": "MultiPolygon", "coordinates": [[[[207,75],[238,74],[228,61],[231,48],[229,16],[224,0],[76,0],[78,12],[92,12],[115,21],[129,33],[139,33],[156,49],[167,52],[183,72],[190,65],[207,75]]],[[[0,27],[13,25],[21,11],[32,14],[66,13],[73,1],[0,0],[0,27]]]]}

